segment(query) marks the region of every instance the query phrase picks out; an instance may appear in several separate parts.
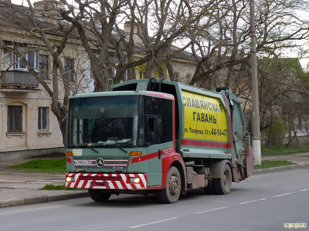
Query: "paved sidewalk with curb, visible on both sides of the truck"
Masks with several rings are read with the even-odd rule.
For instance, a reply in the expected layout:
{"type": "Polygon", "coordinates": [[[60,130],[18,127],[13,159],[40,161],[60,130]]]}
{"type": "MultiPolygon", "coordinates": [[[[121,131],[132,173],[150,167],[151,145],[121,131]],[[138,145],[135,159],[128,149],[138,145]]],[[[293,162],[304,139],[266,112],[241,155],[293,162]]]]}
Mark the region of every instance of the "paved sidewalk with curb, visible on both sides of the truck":
{"type": "MultiPolygon", "coordinates": [[[[59,157],[57,157],[59,158],[59,157]]],[[[34,160],[37,158],[33,158],[34,160]]],[[[0,162],[0,207],[23,205],[47,201],[58,201],[76,197],[87,197],[88,192],[75,190],[39,190],[45,184],[64,184],[65,175],[26,173],[6,169],[13,164],[21,164],[33,159],[20,159],[0,162]]],[[[50,157],[47,159],[51,159],[50,157]]],[[[288,160],[294,165],[254,170],[253,174],[273,172],[290,168],[309,166],[309,153],[262,156],[262,160],[288,160]]]]}

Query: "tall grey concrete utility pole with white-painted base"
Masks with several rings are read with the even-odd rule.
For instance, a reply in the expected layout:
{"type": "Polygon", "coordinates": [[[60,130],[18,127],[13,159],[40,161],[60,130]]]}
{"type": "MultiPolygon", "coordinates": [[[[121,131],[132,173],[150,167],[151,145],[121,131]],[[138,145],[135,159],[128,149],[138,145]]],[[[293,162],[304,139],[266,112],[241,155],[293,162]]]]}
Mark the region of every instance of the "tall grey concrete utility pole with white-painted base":
{"type": "Polygon", "coordinates": [[[251,77],[252,77],[252,149],[254,165],[261,164],[259,89],[257,81],[254,0],[250,0],[251,77]]]}

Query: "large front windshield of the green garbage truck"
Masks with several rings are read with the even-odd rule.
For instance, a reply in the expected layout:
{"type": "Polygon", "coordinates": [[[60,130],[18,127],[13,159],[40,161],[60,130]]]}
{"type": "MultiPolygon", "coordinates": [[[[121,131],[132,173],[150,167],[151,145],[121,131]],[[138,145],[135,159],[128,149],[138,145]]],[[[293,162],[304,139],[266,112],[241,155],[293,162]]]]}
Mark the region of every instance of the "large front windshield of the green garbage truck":
{"type": "Polygon", "coordinates": [[[139,96],[70,99],[68,146],[136,146],[139,96]]]}

